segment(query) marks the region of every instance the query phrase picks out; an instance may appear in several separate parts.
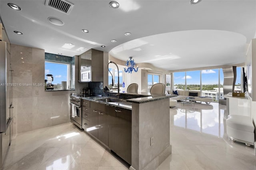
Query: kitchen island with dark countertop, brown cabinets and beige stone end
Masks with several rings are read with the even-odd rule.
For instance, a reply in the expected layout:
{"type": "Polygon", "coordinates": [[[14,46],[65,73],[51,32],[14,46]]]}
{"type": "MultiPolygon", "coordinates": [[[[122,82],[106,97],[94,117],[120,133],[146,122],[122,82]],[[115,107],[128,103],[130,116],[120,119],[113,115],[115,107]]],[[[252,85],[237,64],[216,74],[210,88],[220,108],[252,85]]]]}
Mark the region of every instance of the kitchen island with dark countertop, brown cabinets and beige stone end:
{"type": "MultiPolygon", "coordinates": [[[[130,142],[130,148],[123,147],[124,149],[127,148],[130,158],[129,156],[127,157],[127,153],[124,153],[124,156],[122,156],[122,153],[117,154],[131,164],[131,170],[156,169],[172,152],[172,146],[170,145],[169,98],[174,96],[150,93],[121,93],[121,102],[114,100],[108,100],[110,102],[107,102],[107,100],[104,100],[106,98],[116,97],[116,93],[109,92],[106,93],[105,96],[106,97],[84,97],[83,99],[90,101],[94,107],[96,104],[100,104],[109,107],[108,110],[114,108],[114,110],[123,109],[123,111],[130,111],[123,112],[126,113],[126,115],[123,115],[122,119],[118,119],[120,121],[124,121],[125,119],[124,122],[126,123],[124,124],[126,127],[120,129],[123,130],[122,132],[128,133],[128,135],[121,135],[122,138],[120,138],[120,144],[118,143],[119,137],[115,138],[116,141],[114,141],[114,143],[116,142],[114,146],[118,144],[120,146],[122,146],[122,144],[127,144],[126,140],[128,140],[128,144],[130,142]],[[130,120],[130,126],[129,123],[127,123],[127,120],[130,120]],[[121,140],[124,138],[124,143],[122,143],[121,140]]],[[[93,109],[91,110],[94,112],[93,109]]],[[[99,114],[97,114],[98,117],[102,116],[102,113],[103,112],[99,112],[99,114]]],[[[90,114],[92,120],[92,113],[90,114]]],[[[98,128],[97,135],[105,135],[102,139],[103,141],[100,140],[102,136],[97,136],[97,138],[106,147],[113,150],[112,147],[114,146],[111,139],[111,130],[113,130],[111,128],[111,120],[113,119],[110,119],[111,114],[113,113],[109,112],[108,118],[104,118],[105,120],[110,120],[108,131],[105,129],[104,133],[102,133],[103,129],[98,128]],[[109,136],[108,140],[106,140],[107,134],[109,136]]],[[[102,119],[98,120],[100,121],[102,119]]],[[[98,125],[104,127],[105,124],[100,123],[98,125]]],[[[92,126],[95,127],[95,125],[92,126]]],[[[92,132],[89,133],[92,134],[92,132]]],[[[92,136],[95,137],[96,134],[93,134],[92,136]]],[[[113,151],[115,152],[115,150],[113,151]]],[[[116,152],[118,152],[118,149],[116,152]]]]}

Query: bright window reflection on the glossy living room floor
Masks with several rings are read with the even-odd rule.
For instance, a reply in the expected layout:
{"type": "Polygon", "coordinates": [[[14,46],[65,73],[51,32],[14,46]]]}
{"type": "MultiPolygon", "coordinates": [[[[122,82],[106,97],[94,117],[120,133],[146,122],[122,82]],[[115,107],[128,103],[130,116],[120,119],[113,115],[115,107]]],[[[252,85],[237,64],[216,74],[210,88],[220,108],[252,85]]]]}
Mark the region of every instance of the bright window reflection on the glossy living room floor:
{"type": "Polygon", "coordinates": [[[222,137],[225,110],[226,105],[219,105],[218,103],[182,105],[178,102],[177,107],[170,112],[171,123],[174,126],[222,137]]]}

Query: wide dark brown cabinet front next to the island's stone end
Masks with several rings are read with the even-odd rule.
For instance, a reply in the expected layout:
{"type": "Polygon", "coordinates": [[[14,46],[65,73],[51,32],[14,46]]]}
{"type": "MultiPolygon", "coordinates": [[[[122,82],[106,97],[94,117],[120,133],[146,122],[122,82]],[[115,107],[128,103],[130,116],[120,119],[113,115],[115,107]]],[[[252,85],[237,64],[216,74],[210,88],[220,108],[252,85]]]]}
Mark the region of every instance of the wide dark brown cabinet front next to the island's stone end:
{"type": "Polygon", "coordinates": [[[108,107],[108,147],[132,164],[132,111],[108,107]]]}

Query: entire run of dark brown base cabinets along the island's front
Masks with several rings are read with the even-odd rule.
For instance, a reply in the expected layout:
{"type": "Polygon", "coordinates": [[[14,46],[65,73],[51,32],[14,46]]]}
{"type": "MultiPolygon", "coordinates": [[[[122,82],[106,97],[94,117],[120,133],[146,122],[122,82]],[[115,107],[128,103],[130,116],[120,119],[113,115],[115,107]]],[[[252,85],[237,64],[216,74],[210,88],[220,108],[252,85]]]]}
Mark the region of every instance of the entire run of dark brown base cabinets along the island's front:
{"type": "Polygon", "coordinates": [[[83,100],[82,127],[132,164],[132,111],[83,100]]]}

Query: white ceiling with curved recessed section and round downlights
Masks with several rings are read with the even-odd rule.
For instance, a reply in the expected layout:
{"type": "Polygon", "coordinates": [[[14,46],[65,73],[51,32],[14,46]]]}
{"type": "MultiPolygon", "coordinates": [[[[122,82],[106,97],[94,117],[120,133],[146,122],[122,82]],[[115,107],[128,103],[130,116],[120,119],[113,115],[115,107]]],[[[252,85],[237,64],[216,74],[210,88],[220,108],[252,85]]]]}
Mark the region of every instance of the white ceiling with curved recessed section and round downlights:
{"type": "Polygon", "coordinates": [[[45,6],[45,0],[1,0],[10,42],[67,56],[95,48],[124,61],[132,56],[136,63],[177,70],[242,63],[256,33],[256,0],[116,0],[118,9],[108,6],[110,0],[68,1],[74,4],[69,15],[45,6]],[[50,24],[51,16],[64,25],[50,24]],[[74,47],[63,48],[65,43],[74,47]]]}

